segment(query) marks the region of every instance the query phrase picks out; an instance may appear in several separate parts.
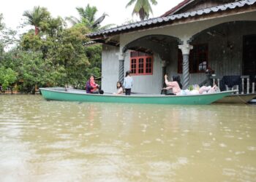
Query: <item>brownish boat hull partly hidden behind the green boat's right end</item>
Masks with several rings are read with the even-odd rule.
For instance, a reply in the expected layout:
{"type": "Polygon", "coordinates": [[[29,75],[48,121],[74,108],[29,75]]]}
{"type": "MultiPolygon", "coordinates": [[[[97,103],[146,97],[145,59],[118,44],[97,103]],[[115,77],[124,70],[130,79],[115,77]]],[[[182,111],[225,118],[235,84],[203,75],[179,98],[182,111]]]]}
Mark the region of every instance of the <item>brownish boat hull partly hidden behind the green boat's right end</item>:
{"type": "Polygon", "coordinates": [[[215,101],[214,103],[248,103],[256,94],[233,94],[215,101]]]}

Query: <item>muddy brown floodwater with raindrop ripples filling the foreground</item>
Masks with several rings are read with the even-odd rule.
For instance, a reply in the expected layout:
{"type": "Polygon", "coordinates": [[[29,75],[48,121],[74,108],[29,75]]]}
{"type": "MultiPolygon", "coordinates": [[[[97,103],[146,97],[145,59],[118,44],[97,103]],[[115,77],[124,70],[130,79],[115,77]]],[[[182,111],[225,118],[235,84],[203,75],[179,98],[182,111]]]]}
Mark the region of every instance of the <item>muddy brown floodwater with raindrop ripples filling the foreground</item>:
{"type": "Polygon", "coordinates": [[[256,179],[256,106],[0,103],[1,181],[256,179]]]}

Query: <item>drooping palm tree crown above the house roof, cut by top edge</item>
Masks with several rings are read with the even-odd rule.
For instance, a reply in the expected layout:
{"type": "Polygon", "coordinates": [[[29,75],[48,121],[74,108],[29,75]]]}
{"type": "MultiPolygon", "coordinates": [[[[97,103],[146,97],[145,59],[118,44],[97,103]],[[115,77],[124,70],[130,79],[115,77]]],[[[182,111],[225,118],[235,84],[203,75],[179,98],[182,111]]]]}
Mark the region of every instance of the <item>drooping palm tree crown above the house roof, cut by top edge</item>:
{"type": "Polygon", "coordinates": [[[153,5],[157,5],[156,0],[130,0],[129,3],[127,4],[126,8],[131,6],[133,3],[135,3],[135,1],[136,1],[136,4],[133,9],[132,15],[134,15],[134,14],[139,15],[140,20],[147,19],[149,16],[149,13],[153,14],[150,2],[153,5]]]}

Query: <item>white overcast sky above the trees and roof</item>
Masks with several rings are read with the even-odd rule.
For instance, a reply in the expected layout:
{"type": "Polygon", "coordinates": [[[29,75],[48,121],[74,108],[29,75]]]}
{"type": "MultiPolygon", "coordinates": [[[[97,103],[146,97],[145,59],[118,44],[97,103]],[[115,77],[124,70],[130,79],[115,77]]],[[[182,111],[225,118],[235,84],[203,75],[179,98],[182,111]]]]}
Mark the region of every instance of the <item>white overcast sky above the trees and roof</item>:
{"type": "MultiPolygon", "coordinates": [[[[154,15],[150,17],[159,17],[181,1],[183,0],[157,0],[157,6],[152,6],[154,15]]],[[[75,7],[86,7],[90,4],[98,9],[96,17],[100,17],[103,12],[109,15],[102,25],[110,23],[121,25],[132,19],[132,9],[135,4],[126,9],[128,2],[129,0],[2,0],[0,13],[4,15],[7,28],[17,28],[24,21],[23,12],[33,9],[34,6],[46,7],[53,17],[79,17],[75,7]]],[[[133,19],[138,20],[138,17],[134,16],[133,19]]]]}

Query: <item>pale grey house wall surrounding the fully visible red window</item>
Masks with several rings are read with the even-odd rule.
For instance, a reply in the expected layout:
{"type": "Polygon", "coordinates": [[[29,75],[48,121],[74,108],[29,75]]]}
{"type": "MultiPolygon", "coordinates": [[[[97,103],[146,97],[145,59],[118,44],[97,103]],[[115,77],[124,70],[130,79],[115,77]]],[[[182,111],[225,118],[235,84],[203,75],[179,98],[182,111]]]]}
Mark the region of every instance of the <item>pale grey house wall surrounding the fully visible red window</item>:
{"type": "MultiPolygon", "coordinates": [[[[119,62],[118,47],[103,45],[102,47],[102,90],[104,92],[116,92],[116,82],[118,81],[119,62]]],[[[124,60],[124,72],[130,69],[130,51],[127,51],[124,60]]],[[[159,93],[162,87],[162,66],[161,59],[157,53],[153,57],[152,75],[132,76],[134,85],[132,92],[159,93]]]]}

